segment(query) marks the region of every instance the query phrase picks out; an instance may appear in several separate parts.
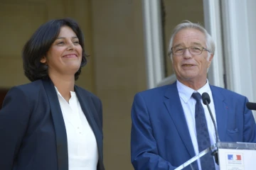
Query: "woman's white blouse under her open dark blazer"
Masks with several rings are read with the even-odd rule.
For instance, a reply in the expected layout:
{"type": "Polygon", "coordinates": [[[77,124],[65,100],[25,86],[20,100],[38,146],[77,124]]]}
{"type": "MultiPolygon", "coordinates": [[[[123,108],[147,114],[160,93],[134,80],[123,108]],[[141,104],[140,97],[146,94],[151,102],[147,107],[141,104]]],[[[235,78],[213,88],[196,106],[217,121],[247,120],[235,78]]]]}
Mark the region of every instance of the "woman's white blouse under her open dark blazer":
{"type": "Polygon", "coordinates": [[[58,94],[68,137],[68,169],[97,169],[98,150],[96,138],[82,111],[78,97],[74,91],[70,91],[71,98],[67,102],[56,87],[55,90],[58,94]]]}

